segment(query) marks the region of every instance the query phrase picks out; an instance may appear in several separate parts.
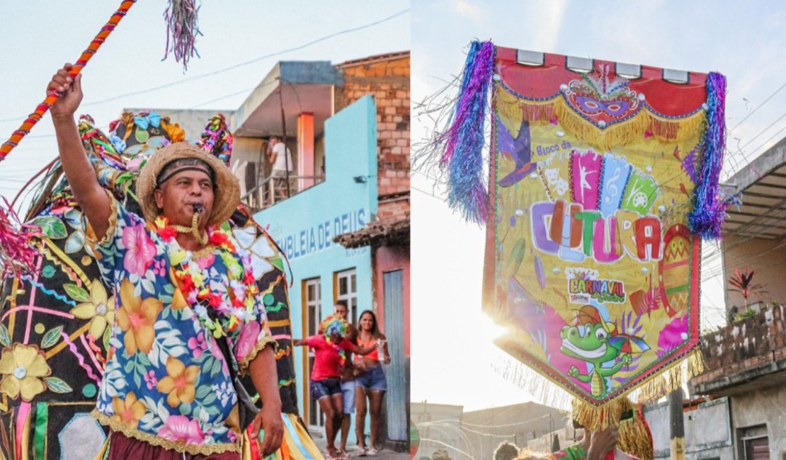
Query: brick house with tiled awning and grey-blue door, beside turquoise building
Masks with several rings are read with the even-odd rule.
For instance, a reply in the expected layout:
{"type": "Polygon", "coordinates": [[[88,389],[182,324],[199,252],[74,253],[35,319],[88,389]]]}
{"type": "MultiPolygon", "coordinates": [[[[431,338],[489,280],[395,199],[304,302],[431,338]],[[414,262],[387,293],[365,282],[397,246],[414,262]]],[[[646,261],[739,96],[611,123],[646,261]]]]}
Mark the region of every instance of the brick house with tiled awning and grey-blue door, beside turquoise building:
{"type": "Polygon", "coordinates": [[[410,420],[410,53],[338,64],[343,89],[336,107],[363,94],[376,100],[376,218],[336,237],[347,250],[371,251],[373,310],[388,338],[384,437],[406,449],[410,420]],[[403,319],[403,322],[401,321],[403,319]]]}

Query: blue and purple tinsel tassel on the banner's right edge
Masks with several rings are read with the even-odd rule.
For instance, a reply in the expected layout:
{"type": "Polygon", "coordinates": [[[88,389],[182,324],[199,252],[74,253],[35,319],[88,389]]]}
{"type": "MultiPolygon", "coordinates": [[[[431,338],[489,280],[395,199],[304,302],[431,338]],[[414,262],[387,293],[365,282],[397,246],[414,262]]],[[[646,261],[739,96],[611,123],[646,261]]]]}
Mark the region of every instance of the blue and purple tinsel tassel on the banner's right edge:
{"type": "Polygon", "coordinates": [[[721,237],[721,225],[729,206],[718,189],[725,150],[725,98],[726,78],[711,72],[707,77],[707,133],[699,181],[693,191],[693,212],[688,214],[690,231],[706,239],[721,237]]]}

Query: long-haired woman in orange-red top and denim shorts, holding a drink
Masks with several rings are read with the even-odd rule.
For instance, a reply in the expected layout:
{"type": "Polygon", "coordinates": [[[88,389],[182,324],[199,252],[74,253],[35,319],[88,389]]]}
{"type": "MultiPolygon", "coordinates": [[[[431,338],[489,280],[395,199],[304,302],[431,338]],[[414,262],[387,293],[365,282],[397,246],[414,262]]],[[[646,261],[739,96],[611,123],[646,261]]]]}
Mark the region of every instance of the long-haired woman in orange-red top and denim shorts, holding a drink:
{"type": "Polygon", "coordinates": [[[358,336],[356,339],[358,346],[374,349],[373,352],[365,356],[354,356],[354,366],[359,372],[354,379],[355,407],[357,407],[354,425],[360,450],[358,456],[362,457],[364,455],[376,455],[376,436],[380,430],[382,398],[387,390],[387,381],[385,380],[385,373],[382,371],[382,363],[390,363],[391,356],[387,352],[385,335],[380,333],[380,328],[376,325],[374,313],[371,310],[365,310],[365,312],[360,314],[358,323],[358,336]],[[380,349],[383,356],[380,356],[380,349]],[[365,447],[364,434],[366,399],[368,399],[368,407],[371,412],[369,448],[365,447]]]}

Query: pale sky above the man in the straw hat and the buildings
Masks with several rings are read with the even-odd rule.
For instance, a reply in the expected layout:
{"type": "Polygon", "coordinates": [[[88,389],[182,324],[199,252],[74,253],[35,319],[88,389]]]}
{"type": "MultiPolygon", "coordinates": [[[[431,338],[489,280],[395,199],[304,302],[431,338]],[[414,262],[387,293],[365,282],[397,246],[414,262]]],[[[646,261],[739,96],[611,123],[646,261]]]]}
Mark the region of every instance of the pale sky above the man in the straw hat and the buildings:
{"type": "MultiPolygon", "coordinates": [[[[343,2],[202,2],[197,41],[201,58],[188,72],[169,57],[164,0],[131,7],[83,73],[82,112],[108,126],[123,107],[233,110],[278,60],[343,60],[410,49],[410,14],[307,48],[259,60],[230,71],[183,82],[266,54],[293,48],[336,32],[383,20],[410,7],[406,0],[343,2]],[[164,89],[106,100],[171,82],[164,89]],[[246,90],[247,89],[247,90],[246,90]],[[228,96],[236,93],[234,96],[228,96]],[[207,103],[207,104],[206,104],[207,103]]],[[[2,2],[2,89],[0,136],[5,141],[42,100],[46,83],[65,62],[73,62],[120,5],[119,0],[2,2]],[[8,121],[6,121],[8,120],[8,121]]],[[[0,194],[13,198],[21,184],[57,155],[47,116],[0,163],[0,194]]],[[[2,142],[0,141],[0,142],[2,142]]]]}

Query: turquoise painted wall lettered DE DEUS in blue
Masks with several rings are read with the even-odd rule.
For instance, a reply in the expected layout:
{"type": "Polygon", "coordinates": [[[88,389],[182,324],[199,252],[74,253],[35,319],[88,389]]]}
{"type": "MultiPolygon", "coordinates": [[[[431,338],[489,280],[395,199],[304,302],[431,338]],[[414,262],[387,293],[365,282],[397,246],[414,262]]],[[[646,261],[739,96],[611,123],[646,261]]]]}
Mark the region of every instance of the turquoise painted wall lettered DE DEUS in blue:
{"type": "MultiPolygon", "coordinates": [[[[289,305],[295,338],[304,334],[303,279],[321,279],[324,318],[332,313],[333,273],[355,268],[358,313],[371,308],[369,247],[347,250],[332,239],[368,224],[376,215],[376,203],[376,104],[365,96],[325,122],[325,181],[255,215],[292,265],[289,305]]],[[[303,347],[297,347],[294,356],[298,404],[305,415],[303,347]]]]}

